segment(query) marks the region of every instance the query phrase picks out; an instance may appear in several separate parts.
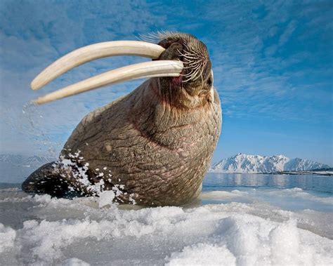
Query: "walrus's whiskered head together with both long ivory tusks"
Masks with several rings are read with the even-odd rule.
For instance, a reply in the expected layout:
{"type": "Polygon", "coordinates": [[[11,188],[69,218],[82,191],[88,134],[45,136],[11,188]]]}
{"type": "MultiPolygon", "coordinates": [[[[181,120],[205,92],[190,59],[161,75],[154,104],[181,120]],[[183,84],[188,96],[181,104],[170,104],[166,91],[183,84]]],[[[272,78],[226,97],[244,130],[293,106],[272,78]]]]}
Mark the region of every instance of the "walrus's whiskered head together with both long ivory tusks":
{"type": "Polygon", "coordinates": [[[160,77],[159,90],[177,107],[194,108],[214,100],[214,93],[211,91],[211,61],[207,47],[200,40],[191,34],[178,32],[162,32],[146,36],[145,39],[150,42],[158,41],[158,44],[145,41],[109,41],[85,46],[63,56],[32,81],[33,90],[48,84],[60,74],[97,58],[140,55],[152,58],[152,62],[105,72],[44,95],[34,102],[44,104],[101,86],[145,77],[160,77]]]}

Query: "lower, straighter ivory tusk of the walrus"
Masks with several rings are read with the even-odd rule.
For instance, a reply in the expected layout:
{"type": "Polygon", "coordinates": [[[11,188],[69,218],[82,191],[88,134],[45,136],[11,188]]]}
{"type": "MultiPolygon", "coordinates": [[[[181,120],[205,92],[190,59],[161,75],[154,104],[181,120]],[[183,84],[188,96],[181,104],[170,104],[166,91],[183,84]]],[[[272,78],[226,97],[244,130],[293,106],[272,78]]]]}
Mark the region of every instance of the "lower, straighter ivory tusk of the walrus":
{"type": "Polygon", "coordinates": [[[79,81],[58,91],[48,93],[34,100],[34,103],[41,105],[46,102],[65,98],[70,95],[90,91],[105,85],[115,84],[131,79],[142,79],[150,77],[179,77],[183,70],[183,62],[177,60],[157,60],[141,62],[110,70],[95,77],[79,81]]]}

